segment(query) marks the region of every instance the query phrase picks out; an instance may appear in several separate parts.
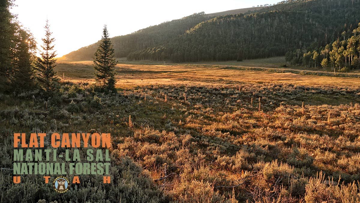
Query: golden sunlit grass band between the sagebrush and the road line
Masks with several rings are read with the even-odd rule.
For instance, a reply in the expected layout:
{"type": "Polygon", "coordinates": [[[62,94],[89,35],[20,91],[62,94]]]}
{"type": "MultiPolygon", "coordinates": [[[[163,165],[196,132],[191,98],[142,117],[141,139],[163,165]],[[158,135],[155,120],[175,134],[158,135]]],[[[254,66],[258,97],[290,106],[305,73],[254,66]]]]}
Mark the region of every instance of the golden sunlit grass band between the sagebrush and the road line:
{"type": "MultiPolygon", "coordinates": [[[[73,82],[93,83],[92,61],[59,62],[55,70],[61,78],[73,82]],[[64,76],[64,77],[63,77],[64,76]]],[[[359,86],[358,78],[301,75],[294,73],[271,73],[207,67],[203,65],[117,65],[117,87],[128,88],[145,85],[208,85],[238,83],[292,83],[319,86],[359,86]]]]}

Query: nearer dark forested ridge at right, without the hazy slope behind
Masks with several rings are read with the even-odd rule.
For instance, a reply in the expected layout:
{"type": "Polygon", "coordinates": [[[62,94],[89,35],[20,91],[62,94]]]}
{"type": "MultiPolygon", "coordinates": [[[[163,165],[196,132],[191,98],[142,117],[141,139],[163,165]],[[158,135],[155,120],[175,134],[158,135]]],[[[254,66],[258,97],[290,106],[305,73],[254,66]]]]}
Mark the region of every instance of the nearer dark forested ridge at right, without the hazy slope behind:
{"type": "Polygon", "coordinates": [[[326,45],[344,30],[354,29],[360,19],[359,0],[283,4],[262,9],[262,13],[207,20],[169,43],[133,52],[128,59],[222,61],[237,59],[238,52],[245,59],[282,56],[313,43],[326,45]]]}

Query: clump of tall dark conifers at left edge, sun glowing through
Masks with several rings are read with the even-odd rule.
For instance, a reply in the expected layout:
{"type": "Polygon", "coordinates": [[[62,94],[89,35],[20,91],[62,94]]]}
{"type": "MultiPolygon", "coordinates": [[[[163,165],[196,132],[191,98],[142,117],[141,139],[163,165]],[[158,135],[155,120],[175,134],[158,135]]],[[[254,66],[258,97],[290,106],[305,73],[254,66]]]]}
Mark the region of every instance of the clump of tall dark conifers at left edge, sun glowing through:
{"type": "Polygon", "coordinates": [[[6,91],[33,87],[36,43],[10,13],[13,1],[0,2],[0,86],[6,91]]]}

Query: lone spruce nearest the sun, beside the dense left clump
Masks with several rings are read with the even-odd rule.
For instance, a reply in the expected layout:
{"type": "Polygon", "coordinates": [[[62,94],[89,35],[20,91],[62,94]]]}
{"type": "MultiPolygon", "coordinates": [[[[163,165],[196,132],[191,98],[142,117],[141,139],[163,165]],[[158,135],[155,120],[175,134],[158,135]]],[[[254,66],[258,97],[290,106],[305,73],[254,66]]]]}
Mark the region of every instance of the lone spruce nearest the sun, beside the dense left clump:
{"type": "Polygon", "coordinates": [[[40,53],[41,58],[37,57],[35,62],[35,69],[38,71],[37,80],[39,81],[40,87],[46,92],[50,93],[58,89],[58,73],[54,70],[56,66],[56,51],[53,51],[54,45],[52,43],[55,41],[54,38],[51,38],[51,32],[49,29],[49,21],[46,20],[45,25],[45,38],[42,38],[43,45],[41,48],[43,51],[40,53]]]}

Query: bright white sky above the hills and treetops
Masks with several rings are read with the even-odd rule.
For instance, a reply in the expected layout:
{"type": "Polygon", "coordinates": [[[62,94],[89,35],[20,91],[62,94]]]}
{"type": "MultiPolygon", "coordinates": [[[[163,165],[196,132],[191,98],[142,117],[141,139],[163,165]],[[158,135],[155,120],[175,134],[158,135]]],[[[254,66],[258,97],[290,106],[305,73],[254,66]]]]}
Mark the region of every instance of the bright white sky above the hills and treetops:
{"type": "MultiPolygon", "coordinates": [[[[204,11],[216,13],[276,4],[280,0],[16,0],[11,9],[38,42],[45,21],[55,38],[57,57],[100,40],[104,24],[110,37],[129,34],[159,23],[204,11]]],[[[39,46],[40,47],[40,46],[39,46]]]]}

